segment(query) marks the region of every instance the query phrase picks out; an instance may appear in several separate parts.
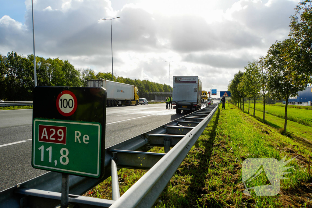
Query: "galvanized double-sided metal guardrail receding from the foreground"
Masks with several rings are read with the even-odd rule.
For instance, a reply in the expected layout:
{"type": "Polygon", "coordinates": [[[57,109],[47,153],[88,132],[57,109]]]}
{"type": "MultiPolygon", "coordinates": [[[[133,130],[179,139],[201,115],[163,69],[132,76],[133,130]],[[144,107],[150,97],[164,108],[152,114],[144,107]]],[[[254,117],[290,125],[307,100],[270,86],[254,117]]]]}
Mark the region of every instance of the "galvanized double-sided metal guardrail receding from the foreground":
{"type": "MultiPolygon", "coordinates": [[[[78,205],[79,208],[153,206],[197,138],[212,119],[219,104],[212,104],[149,132],[106,148],[104,177],[97,180],[71,175],[69,177],[69,202],[78,205]],[[147,152],[153,147],[164,147],[165,154],[147,152]],[[149,171],[119,198],[117,171],[121,168],[149,171]],[[113,200],[79,196],[110,176],[112,176],[113,200]]],[[[60,204],[60,192],[61,173],[47,172],[1,191],[0,207],[54,208],[60,204]]]]}

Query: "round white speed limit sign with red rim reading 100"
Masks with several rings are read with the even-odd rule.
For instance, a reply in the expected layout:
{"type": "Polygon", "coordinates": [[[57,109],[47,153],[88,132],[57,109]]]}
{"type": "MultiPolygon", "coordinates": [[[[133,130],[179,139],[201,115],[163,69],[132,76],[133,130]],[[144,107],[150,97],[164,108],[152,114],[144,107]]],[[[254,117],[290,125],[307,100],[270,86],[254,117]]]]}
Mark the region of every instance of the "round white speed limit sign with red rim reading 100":
{"type": "Polygon", "coordinates": [[[56,108],[63,116],[71,116],[77,109],[77,98],[69,90],[62,91],[56,99],[56,108]]]}

